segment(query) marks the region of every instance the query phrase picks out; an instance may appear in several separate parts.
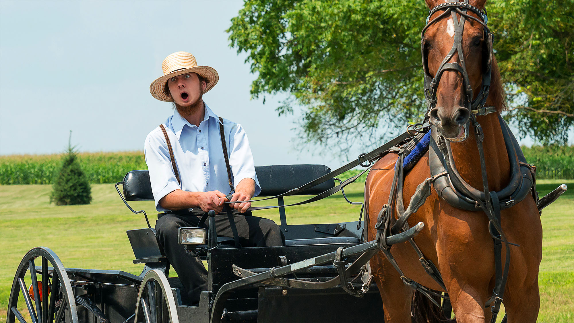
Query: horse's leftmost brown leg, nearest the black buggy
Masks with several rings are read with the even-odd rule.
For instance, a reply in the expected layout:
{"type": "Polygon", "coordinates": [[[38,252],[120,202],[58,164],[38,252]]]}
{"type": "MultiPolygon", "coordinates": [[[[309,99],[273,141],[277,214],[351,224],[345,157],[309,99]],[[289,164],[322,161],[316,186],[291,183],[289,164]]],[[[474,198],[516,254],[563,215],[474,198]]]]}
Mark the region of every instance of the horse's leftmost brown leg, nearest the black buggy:
{"type": "Polygon", "coordinates": [[[385,322],[411,323],[410,302],[413,290],[402,282],[398,272],[381,253],[371,259],[371,267],[381,293],[385,322]]]}

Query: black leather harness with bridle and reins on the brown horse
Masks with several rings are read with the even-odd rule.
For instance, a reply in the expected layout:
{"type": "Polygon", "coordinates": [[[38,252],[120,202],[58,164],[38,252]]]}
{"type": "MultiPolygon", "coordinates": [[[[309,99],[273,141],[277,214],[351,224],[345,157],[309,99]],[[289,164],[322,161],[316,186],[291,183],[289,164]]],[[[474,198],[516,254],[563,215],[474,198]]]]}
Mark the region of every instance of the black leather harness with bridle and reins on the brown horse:
{"type": "MultiPolygon", "coordinates": [[[[424,69],[424,93],[426,98],[426,103],[428,110],[426,112],[425,117],[425,124],[416,124],[409,126],[407,132],[401,134],[401,136],[391,140],[389,143],[382,145],[381,147],[375,149],[375,151],[370,152],[368,154],[362,154],[359,158],[351,163],[340,167],[338,170],[332,171],[329,174],[321,176],[312,182],[305,184],[297,189],[288,191],[284,194],[277,195],[276,197],[258,199],[258,200],[251,200],[249,202],[257,202],[263,201],[266,199],[284,197],[288,195],[292,195],[299,191],[305,190],[309,187],[313,187],[316,184],[322,183],[327,179],[332,178],[333,176],[342,174],[342,172],[346,170],[350,170],[352,167],[355,166],[363,166],[367,169],[361,172],[360,174],[353,176],[352,178],[342,182],[339,186],[333,187],[333,189],[325,191],[308,199],[304,202],[294,203],[292,205],[301,205],[308,202],[317,201],[318,199],[327,197],[332,195],[336,191],[342,190],[343,187],[351,182],[354,182],[358,176],[362,175],[364,172],[369,170],[374,160],[380,159],[382,156],[386,155],[389,152],[398,153],[398,159],[395,163],[395,172],[393,177],[393,183],[391,185],[389,201],[385,204],[377,217],[377,224],[375,225],[375,229],[377,229],[377,235],[375,237],[375,242],[378,248],[382,251],[383,255],[389,260],[392,266],[397,270],[397,272],[401,275],[402,281],[407,284],[408,286],[412,287],[412,289],[420,291],[420,293],[424,294],[426,297],[430,299],[435,305],[442,307],[440,303],[437,301],[438,298],[449,299],[448,294],[442,294],[437,291],[428,289],[421,284],[417,283],[413,279],[407,278],[404,273],[402,272],[401,268],[398,266],[396,260],[394,259],[393,255],[390,252],[390,247],[393,243],[390,243],[389,237],[397,236],[397,234],[406,233],[407,231],[412,232],[413,229],[420,230],[417,224],[415,227],[410,228],[408,224],[409,217],[416,213],[418,209],[424,205],[426,199],[430,196],[431,187],[433,186],[437,191],[437,194],[440,198],[444,199],[450,205],[457,207],[463,210],[470,210],[470,211],[482,211],[488,217],[488,232],[492,236],[492,240],[494,243],[494,257],[495,257],[495,287],[492,291],[492,297],[488,299],[485,306],[491,306],[492,318],[491,323],[494,323],[497,319],[498,312],[500,309],[500,305],[503,302],[503,295],[506,286],[506,280],[509,271],[509,264],[510,264],[510,245],[517,245],[510,243],[507,239],[505,234],[501,228],[501,210],[507,209],[516,203],[522,201],[529,193],[533,194],[535,201],[537,201],[539,210],[541,209],[541,203],[538,202],[538,196],[536,193],[535,187],[535,171],[536,168],[526,163],[524,156],[522,155],[522,151],[518,145],[517,140],[510,132],[510,129],[506,125],[506,122],[499,116],[499,122],[502,129],[503,140],[505,143],[505,147],[510,159],[510,168],[511,168],[511,179],[510,183],[502,189],[501,191],[495,192],[490,191],[488,189],[488,179],[486,174],[486,161],[484,159],[484,149],[483,149],[483,140],[484,140],[484,133],[482,131],[481,126],[476,121],[476,116],[485,116],[487,114],[493,113],[497,111],[495,107],[487,106],[485,107],[484,104],[486,103],[486,99],[488,97],[488,93],[490,90],[490,81],[491,81],[491,71],[492,71],[492,33],[488,29],[487,26],[487,14],[486,11],[482,11],[475,6],[472,6],[468,3],[468,0],[464,2],[446,2],[441,3],[433,7],[430,12],[429,16],[426,19],[426,26],[422,29],[421,32],[421,52],[422,52],[422,66],[424,69]],[[444,10],[443,13],[439,14],[433,20],[430,20],[430,17],[439,10],[444,10]],[[470,16],[468,11],[475,13],[479,18],[470,16]],[[426,46],[424,40],[424,33],[426,29],[429,28],[430,25],[434,24],[435,22],[441,20],[442,18],[446,17],[448,14],[451,14],[453,25],[455,26],[455,35],[454,41],[451,50],[448,54],[444,57],[443,61],[441,62],[438,70],[436,71],[435,77],[432,77],[429,72],[427,55],[426,55],[426,46]],[[457,18],[457,14],[460,15],[460,21],[457,18]],[[483,26],[484,32],[484,44],[486,46],[483,47],[483,75],[482,75],[482,86],[480,87],[478,95],[474,98],[474,93],[472,90],[472,86],[470,84],[470,79],[468,77],[468,72],[466,69],[466,64],[464,63],[464,55],[462,51],[462,39],[463,39],[463,32],[464,32],[464,22],[466,19],[471,19],[478,22],[480,25],[483,26]],[[429,21],[430,20],[430,21],[429,21]],[[459,62],[447,63],[452,57],[458,53],[459,62]],[[446,140],[443,134],[437,130],[437,127],[432,127],[426,121],[429,120],[430,111],[435,109],[437,103],[437,87],[440,82],[441,76],[444,74],[445,71],[455,71],[463,77],[463,88],[464,88],[464,107],[470,110],[470,118],[469,121],[464,125],[465,131],[468,133],[470,129],[470,125],[472,124],[472,130],[475,132],[476,144],[478,146],[478,151],[480,155],[480,171],[482,175],[482,183],[483,187],[482,190],[477,190],[474,187],[470,186],[463,178],[461,178],[459,172],[456,169],[450,144],[448,140],[446,140]],[[429,148],[430,147],[430,148],[429,148]],[[429,166],[430,166],[430,173],[431,176],[425,179],[422,183],[417,186],[417,189],[413,196],[410,199],[409,205],[405,207],[404,205],[404,198],[403,198],[403,188],[404,188],[404,180],[405,180],[405,172],[410,170],[418,161],[417,157],[413,157],[416,155],[418,157],[424,155],[426,149],[429,149],[429,166]],[[411,154],[414,152],[414,154],[411,154]],[[422,152],[422,153],[421,153],[422,152]],[[368,164],[363,164],[365,161],[369,161],[368,164]],[[396,213],[396,216],[395,216],[396,213]],[[502,269],[502,244],[505,244],[506,248],[506,257],[505,257],[505,266],[502,269]]],[[[558,190],[558,189],[557,189],[558,190]]],[[[565,190],[565,189],[562,189],[565,190]]],[[[549,198],[548,202],[544,202],[543,204],[548,205],[551,203],[550,200],[554,200],[559,196],[560,193],[556,193],[556,195],[552,198],[549,198]]],[[[229,202],[228,202],[229,203],[229,202]]],[[[545,205],[542,205],[544,207],[545,205]]],[[[289,205],[286,205],[289,206],[289,205]]],[[[269,209],[277,206],[264,206],[264,207],[251,207],[251,210],[256,209],[269,209]]],[[[366,214],[366,217],[369,215],[366,214]]],[[[359,218],[360,223],[360,218],[359,218]]],[[[424,225],[424,224],[422,224],[424,225]]],[[[443,282],[443,278],[440,275],[438,268],[435,264],[432,263],[429,259],[421,252],[421,249],[417,246],[414,242],[413,238],[414,235],[409,236],[411,237],[408,241],[412,245],[414,251],[417,253],[419,257],[419,261],[424,268],[425,272],[430,275],[431,278],[435,280],[439,286],[441,286],[444,290],[446,287],[443,282]]],[[[370,268],[368,266],[362,267],[361,274],[363,276],[363,288],[362,290],[356,290],[352,287],[352,284],[348,283],[347,275],[342,267],[342,263],[344,263],[340,259],[341,253],[344,251],[344,247],[341,247],[338,250],[337,257],[335,258],[335,262],[333,264],[338,268],[339,272],[339,279],[340,284],[344,290],[348,293],[361,296],[368,290],[368,283],[372,276],[370,275],[370,268]]],[[[360,257],[362,259],[361,262],[357,260],[355,264],[360,266],[361,263],[366,263],[370,256],[373,255],[371,252],[363,253],[360,257]]],[[[238,274],[241,276],[241,274],[238,274]]],[[[273,270],[272,270],[272,276],[273,270]]],[[[334,279],[333,279],[334,280],[334,279]]],[[[269,280],[270,281],[270,280],[269,280]]],[[[289,280],[291,281],[291,280],[289,280]]],[[[293,283],[302,284],[302,288],[311,288],[311,287],[303,287],[307,286],[301,282],[293,283]]],[[[280,284],[276,282],[276,284],[280,284]]],[[[321,283],[322,284],[322,283],[321,283]]],[[[283,285],[281,285],[283,286],[283,285]]],[[[285,286],[295,287],[294,285],[289,285],[285,283],[285,286]]],[[[321,285],[322,286],[322,285],[321,285]]],[[[503,318],[503,322],[506,322],[506,316],[503,318]]]]}

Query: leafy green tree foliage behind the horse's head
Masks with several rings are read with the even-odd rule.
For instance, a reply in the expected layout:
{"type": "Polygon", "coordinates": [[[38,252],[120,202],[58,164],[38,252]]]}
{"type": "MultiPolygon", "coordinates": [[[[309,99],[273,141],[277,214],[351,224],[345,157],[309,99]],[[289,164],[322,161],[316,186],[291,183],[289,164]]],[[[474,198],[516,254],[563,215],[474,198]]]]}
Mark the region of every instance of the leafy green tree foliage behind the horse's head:
{"type": "MultiPolygon", "coordinates": [[[[511,114],[543,142],[567,140],[574,122],[574,1],[487,3],[511,114]]],[[[301,138],[377,140],[421,120],[423,1],[247,0],[232,18],[232,47],[257,75],[251,94],[289,93],[278,113],[305,107],[301,138]]]]}

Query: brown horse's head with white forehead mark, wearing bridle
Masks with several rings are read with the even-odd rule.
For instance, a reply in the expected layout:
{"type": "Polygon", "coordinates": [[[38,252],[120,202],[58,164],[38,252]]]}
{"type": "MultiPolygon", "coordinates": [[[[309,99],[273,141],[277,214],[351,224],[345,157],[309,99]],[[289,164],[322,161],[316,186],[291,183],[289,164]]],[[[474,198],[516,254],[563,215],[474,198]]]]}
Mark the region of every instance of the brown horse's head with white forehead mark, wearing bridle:
{"type": "Polygon", "coordinates": [[[471,113],[488,95],[492,36],[485,2],[426,0],[431,11],[421,33],[425,95],[430,122],[449,141],[467,138],[471,113]]]}

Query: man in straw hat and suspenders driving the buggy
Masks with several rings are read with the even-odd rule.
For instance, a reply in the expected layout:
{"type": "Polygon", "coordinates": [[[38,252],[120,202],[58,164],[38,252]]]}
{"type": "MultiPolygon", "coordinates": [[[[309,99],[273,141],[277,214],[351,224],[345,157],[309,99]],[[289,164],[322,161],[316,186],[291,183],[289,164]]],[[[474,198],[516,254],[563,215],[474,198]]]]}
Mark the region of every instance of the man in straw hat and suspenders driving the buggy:
{"type": "MultiPolygon", "coordinates": [[[[249,201],[261,188],[242,126],[219,118],[203,102],[203,94],[219,80],[214,68],[197,66],[193,55],[176,52],[165,58],[162,69],[164,76],[152,82],[150,93],[173,102],[175,111],[146,137],[145,159],[156,209],[168,213],[156,222],[158,241],[195,304],[201,290],[208,289],[207,271],[199,257],[178,243],[178,229],[198,226],[205,212],[215,210],[218,235],[233,237],[227,214],[222,213],[224,202],[249,201]]],[[[275,222],[251,216],[251,203],[230,206],[242,247],[285,244],[275,222]]]]}

